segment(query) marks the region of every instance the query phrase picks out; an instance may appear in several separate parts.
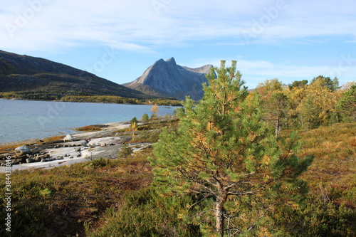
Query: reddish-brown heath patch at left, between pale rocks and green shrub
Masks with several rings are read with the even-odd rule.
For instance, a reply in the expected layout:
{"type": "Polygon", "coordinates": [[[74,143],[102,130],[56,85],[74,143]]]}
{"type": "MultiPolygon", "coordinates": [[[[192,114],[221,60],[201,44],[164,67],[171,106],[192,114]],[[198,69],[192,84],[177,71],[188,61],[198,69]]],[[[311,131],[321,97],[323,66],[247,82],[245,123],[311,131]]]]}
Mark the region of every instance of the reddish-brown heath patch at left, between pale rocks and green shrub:
{"type": "MultiPolygon", "coordinates": [[[[14,171],[11,236],[85,236],[85,226],[96,226],[106,209],[120,203],[127,192],[149,185],[151,179],[142,155],[14,171]]],[[[6,192],[3,186],[0,191],[6,192]]],[[[0,201],[3,206],[4,200],[0,201]]],[[[1,218],[4,215],[1,212],[1,218]]]]}

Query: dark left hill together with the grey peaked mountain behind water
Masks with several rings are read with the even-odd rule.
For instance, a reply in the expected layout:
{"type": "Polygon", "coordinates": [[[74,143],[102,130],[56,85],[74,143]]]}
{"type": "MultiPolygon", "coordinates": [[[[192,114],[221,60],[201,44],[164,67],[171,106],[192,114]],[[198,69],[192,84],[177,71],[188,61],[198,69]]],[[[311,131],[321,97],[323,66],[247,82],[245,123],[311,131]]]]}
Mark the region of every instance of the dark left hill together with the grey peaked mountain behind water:
{"type": "Polygon", "coordinates": [[[190,95],[200,100],[202,83],[212,65],[187,68],[174,58],[156,63],[132,81],[119,85],[110,80],[44,58],[0,51],[0,93],[16,93],[23,98],[59,100],[66,95],[115,95],[124,98],[177,98],[190,95]]]}

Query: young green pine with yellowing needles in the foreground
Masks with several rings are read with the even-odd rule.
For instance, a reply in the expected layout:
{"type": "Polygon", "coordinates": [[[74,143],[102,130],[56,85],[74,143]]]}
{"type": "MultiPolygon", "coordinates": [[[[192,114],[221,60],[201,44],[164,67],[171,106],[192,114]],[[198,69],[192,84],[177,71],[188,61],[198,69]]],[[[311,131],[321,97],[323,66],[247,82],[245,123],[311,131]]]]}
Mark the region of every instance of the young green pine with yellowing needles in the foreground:
{"type": "MultiPolygon", "coordinates": [[[[222,60],[207,78],[204,98],[197,106],[187,98],[184,110],[179,110],[177,132],[162,132],[151,163],[162,192],[213,198],[216,233],[224,236],[229,231],[224,218],[231,211],[243,218],[244,212],[234,204],[251,200],[244,196],[271,199],[304,191],[305,183],[297,178],[312,159],[295,156],[299,144],[295,136],[288,139],[286,149],[278,147],[262,121],[258,96],[248,95],[243,87],[236,61],[226,68],[222,60]]],[[[238,226],[240,233],[251,231],[253,222],[246,228],[238,226]]]]}

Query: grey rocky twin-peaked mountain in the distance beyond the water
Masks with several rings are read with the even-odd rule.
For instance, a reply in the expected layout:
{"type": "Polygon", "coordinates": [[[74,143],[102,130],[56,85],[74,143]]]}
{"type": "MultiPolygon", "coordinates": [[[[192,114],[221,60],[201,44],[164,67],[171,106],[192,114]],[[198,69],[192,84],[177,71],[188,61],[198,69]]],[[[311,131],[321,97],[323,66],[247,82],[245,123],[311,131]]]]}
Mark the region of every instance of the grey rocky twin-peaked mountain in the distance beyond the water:
{"type": "Polygon", "coordinates": [[[190,95],[193,100],[200,100],[203,95],[202,83],[206,83],[205,74],[212,65],[201,68],[188,68],[177,65],[174,58],[157,60],[145,73],[131,83],[122,85],[142,93],[160,97],[174,97],[184,100],[190,95]]]}

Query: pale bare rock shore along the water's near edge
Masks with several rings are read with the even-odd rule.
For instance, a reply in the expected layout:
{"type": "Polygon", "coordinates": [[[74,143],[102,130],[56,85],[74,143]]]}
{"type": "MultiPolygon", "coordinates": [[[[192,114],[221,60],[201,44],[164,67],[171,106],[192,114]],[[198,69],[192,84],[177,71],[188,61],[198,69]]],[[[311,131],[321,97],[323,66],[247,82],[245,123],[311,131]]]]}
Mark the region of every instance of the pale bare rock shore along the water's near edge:
{"type": "MultiPolygon", "coordinates": [[[[6,163],[11,164],[12,170],[49,169],[90,159],[115,159],[123,144],[132,139],[132,132],[129,131],[130,121],[112,122],[95,125],[95,127],[100,127],[101,130],[66,135],[50,142],[33,141],[15,149],[2,149],[0,172],[5,172],[6,163]]],[[[150,143],[130,143],[134,152],[150,145],[150,143]]]]}

